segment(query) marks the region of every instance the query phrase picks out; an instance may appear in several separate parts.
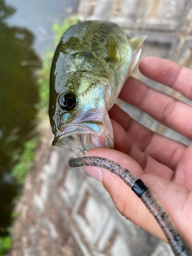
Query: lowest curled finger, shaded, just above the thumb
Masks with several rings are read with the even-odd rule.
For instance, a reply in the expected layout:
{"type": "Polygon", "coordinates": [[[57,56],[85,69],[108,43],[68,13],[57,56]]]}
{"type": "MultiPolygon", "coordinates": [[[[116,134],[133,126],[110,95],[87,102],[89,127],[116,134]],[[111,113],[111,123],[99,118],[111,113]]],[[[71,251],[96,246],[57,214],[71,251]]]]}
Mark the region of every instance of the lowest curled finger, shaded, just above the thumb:
{"type": "Polygon", "coordinates": [[[172,180],[175,175],[175,172],[172,169],[138,150],[138,148],[132,144],[129,136],[121,125],[114,120],[111,121],[114,132],[115,150],[131,156],[139,163],[145,172],[155,174],[167,180],[172,180]]]}

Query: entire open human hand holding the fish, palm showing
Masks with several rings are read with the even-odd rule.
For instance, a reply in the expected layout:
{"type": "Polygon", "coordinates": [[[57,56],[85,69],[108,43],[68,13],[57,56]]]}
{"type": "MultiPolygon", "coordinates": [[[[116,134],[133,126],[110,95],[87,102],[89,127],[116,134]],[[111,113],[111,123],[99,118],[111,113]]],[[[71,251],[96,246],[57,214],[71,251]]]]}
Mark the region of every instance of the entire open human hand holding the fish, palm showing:
{"type": "MultiPolygon", "coordinates": [[[[192,99],[192,71],[176,63],[147,57],[139,65],[143,75],[172,87],[192,99]]],[[[129,77],[119,98],[137,106],[160,123],[192,139],[192,106],[129,77]]],[[[114,105],[109,111],[115,150],[94,148],[91,154],[111,159],[140,178],[162,204],[181,236],[192,249],[192,145],[165,138],[148,130],[114,105]]],[[[89,153],[88,152],[88,153],[89,153]]],[[[101,181],[120,214],[137,226],[166,238],[133,191],[105,169],[84,167],[101,181]]]]}

